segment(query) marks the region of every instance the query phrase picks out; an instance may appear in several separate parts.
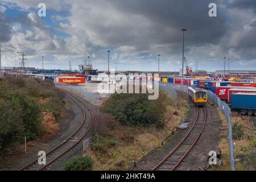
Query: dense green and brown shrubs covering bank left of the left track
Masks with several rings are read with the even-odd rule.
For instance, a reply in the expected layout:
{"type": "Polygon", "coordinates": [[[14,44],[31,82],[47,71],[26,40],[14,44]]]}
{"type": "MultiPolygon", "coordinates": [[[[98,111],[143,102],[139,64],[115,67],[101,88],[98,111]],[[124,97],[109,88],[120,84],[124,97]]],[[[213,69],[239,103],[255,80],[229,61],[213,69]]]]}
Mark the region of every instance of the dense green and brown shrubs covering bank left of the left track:
{"type": "Polygon", "coordinates": [[[42,112],[50,110],[60,117],[63,94],[53,82],[36,78],[0,80],[0,150],[17,136],[35,139],[42,131],[42,112]],[[48,99],[48,102],[42,100],[48,99]]]}

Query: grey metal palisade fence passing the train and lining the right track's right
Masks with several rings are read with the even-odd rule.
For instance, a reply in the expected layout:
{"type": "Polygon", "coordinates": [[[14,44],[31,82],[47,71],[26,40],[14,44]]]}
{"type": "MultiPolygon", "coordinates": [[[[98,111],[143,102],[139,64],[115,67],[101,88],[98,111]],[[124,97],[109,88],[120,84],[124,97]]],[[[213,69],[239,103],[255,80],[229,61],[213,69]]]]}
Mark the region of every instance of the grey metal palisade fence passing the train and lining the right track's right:
{"type": "MultiPolygon", "coordinates": [[[[179,85],[179,84],[172,84],[172,83],[163,83],[159,82],[159,89],[164,90],[167,93],[171,94],[175,99],[177,99],[177,93],[175,90],[180,90],[187,92],[188,85],[179,85]]],[[[225,115],[225,118],[228,121],[228,128],[229,128],[229,155],[230,155],[230,167],[231,170],[234,171],[234,145],[232,140],[232,124],[231,124],[231,110],[226,102],[221,101],[216,94],[214,94],[210,90],[205,90],[208,95],[208,100],[212,101],[218,108],[220,108],[221,112],[225,115]]]]}

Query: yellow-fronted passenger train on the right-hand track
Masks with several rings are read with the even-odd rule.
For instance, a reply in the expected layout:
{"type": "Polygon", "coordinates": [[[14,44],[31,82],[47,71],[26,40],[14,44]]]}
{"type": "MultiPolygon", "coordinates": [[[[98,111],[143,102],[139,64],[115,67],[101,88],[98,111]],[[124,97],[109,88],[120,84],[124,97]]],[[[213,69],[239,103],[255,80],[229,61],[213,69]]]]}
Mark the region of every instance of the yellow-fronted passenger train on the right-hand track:
{"type": "Polygon", "coordinates": [[[188,95],[196,106],[205,106],[207,103],[207,93],[203,89],[189,87],[188,95]]]}

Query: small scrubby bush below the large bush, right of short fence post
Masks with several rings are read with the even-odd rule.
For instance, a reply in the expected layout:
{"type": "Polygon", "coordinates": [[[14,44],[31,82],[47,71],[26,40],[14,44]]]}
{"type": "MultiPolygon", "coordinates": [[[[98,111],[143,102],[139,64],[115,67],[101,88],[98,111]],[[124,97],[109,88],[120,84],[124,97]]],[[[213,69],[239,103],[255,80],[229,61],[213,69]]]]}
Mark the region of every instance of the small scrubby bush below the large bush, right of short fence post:
{"type": "Polygon", "coordinates": [[[115,147],[117,142],[108,137],[102,137],[99,134],[94,134],[92,137],[92,143],[90,144],[90,148],[92,151],[96,152],[96,155],[100,157],[101,155],[106,154],[108,148],[115,147]]]}

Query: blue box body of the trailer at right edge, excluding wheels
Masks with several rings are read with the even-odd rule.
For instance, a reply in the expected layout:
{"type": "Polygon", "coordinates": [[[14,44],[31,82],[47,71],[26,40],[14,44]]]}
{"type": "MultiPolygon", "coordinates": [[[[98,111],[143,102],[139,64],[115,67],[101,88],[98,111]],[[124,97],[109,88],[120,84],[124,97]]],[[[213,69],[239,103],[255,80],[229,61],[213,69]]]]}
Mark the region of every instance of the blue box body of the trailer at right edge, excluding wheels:
{"type": "Polygon", "coordinates": [[[231,109],[256,110],[256,94],[232,94],[231,109]]]}

